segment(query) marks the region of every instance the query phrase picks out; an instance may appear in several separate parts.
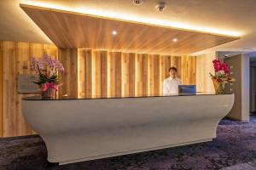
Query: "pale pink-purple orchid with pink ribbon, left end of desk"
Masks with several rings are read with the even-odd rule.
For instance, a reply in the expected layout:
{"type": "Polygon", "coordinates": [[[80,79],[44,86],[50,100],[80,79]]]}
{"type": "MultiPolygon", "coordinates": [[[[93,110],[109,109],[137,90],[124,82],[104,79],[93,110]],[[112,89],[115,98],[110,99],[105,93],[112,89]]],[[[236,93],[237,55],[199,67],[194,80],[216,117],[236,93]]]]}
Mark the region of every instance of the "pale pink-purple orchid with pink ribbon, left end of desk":
{"type": "Polygon", "coordinates": [[[51,59],[49,55],[42,58],[31,58],[31,70],[38,74],[38,80],[35,82],[45,92],[49,88],[58,90],[60,77],[58,73],[64,72],[63,65],[56,59],[51,59]]]}

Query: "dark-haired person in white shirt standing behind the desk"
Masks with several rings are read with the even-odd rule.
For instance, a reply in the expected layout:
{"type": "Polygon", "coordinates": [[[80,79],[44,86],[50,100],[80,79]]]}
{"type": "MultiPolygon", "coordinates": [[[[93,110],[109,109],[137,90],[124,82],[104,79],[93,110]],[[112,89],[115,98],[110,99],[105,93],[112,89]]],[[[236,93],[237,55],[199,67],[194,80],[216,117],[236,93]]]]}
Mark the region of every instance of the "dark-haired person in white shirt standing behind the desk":
{"type": "Polygon", "coordinates": [[[164,95],[178,94],[178,85],[181,85],[182,82],[177,78],[177,68],[171,67],[169,69],[170,77],[164,80],[164,95]]]}

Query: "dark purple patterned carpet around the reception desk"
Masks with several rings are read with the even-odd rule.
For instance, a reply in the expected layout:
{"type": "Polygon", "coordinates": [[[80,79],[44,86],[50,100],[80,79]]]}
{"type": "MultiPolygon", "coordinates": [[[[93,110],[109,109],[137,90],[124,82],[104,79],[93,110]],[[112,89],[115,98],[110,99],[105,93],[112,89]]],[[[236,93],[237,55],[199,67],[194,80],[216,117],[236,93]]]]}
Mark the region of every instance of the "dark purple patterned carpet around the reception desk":
{"type": "Polygon", "coordinates": [[[256,170],[256,116],[250,122],[223,120],[212,142],[49,167],[37,135],[0,139],[0,169],[84,170],[256,170]],[[48,166],[47,166],[48,165],[48,166]]]}

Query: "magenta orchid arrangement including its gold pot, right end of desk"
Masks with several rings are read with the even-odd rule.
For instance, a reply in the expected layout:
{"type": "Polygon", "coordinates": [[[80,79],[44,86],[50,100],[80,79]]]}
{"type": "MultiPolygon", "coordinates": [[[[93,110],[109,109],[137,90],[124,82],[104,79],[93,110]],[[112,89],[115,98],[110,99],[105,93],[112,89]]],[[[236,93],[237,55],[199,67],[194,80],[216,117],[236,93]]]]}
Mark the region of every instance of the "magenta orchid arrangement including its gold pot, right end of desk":
{"type": "Polygon", "coordinates": [[[230,77],[230,66],[219,59],[212,60],[214,67],[214,75],[210,73],[212,82],[215,88],[215,94],[224,94],[225,83],[235,82],[235,79],[230,77]]]}

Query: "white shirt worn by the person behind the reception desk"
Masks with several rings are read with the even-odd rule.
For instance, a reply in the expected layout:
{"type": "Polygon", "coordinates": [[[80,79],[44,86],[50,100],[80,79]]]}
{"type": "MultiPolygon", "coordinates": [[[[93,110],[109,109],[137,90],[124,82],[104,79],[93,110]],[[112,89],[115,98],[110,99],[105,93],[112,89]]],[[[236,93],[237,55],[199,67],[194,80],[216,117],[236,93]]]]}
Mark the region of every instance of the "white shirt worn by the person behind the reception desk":
{"type": "Polygon", "coordinates": [[[164,80],[164,95],[172,95],[172,94],[178,94],[178,85],[181,85],[182,82],[179,78],[166,78],[164,80]]]}

